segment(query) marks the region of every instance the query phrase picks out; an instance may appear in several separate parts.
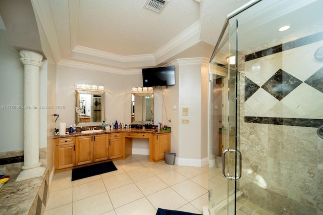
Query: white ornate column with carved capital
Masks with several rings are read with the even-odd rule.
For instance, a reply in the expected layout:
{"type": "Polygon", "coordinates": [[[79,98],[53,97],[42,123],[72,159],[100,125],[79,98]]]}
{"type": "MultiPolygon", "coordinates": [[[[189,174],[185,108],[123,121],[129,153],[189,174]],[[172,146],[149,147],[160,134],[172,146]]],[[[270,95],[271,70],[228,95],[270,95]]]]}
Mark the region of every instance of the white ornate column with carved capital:
{"type": "Polygon", "coordinates": [[[42,55],[20,50],[24,64],[24,166],[16,181],[43,175],[45,168],[39,163],[39,67],[42,55]]]}

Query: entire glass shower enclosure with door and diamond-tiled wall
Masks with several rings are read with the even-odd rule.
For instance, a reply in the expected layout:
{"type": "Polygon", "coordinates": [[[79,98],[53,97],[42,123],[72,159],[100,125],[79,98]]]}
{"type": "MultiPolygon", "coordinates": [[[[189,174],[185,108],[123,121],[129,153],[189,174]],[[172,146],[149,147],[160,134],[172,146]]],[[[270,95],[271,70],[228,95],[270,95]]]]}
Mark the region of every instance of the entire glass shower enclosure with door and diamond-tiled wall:
{"type": "Polygon", "coordinates": [[[261,0],[228,15],[210,60],[210,214],[323,214],[322,9],[261,0]]]}

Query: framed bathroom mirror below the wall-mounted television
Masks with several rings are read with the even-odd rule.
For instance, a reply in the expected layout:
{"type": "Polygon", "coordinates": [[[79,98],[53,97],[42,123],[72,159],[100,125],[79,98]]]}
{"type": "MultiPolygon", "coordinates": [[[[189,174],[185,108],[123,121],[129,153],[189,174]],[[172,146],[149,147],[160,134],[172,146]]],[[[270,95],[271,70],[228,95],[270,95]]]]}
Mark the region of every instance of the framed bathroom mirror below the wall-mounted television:
{"type": "Polygon", "coordinates": [[[131,123],[153,124],[153,93],[131,95],[131,123]]]}

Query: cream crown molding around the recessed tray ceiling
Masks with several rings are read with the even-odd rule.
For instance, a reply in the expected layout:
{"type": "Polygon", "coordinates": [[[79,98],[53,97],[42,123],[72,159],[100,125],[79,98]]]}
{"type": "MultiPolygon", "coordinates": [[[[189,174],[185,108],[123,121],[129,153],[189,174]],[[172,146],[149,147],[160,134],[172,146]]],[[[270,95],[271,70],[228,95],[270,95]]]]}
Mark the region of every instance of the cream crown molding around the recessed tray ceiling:
{"type": "Polygon", "coordinates": [[[73,26],[78,26],[77,17],[79,17],[79,11],[77,9],[79,2],[72,1],[69,4],[69,45],[71,46],[71,52],[70,56],[68,57],[69,60],[65,60],[66,58],[63,59],[62,57],[62,50],[60,49],[55,23],[52,18],[50,3],[42,0],[31,1],[34,7],[34,11],[39,17],[39,24],[44,29],[44,33],[49,43],[53,57],[56,62],[59,62],[58,65],[79,67],[79,65],[81,65],[80,62],[82,61],[87,62],[82,64],[85,66],[85,68],[95,68],[95,70],[104,72],[114,71],[115,73],[121,74],[124,73],[123,71],[127,71],[126,73],[129,74],[129,71],[133,71],[133,68],[154,67],[156,65],[162,64],[163,62],[167,61],[173,56],[176,56],[180,52],[200,41],[200,21],[198,20],[181,34],[165,44],[163,47],[159,48],[154,53],[149,53],[146,55],[121,56],[110,52],[80,46],[77,45],[78,29],[76,27],[73,28],[73,26]],[[120,68],[120,70],[114,68],[120,68]]]}

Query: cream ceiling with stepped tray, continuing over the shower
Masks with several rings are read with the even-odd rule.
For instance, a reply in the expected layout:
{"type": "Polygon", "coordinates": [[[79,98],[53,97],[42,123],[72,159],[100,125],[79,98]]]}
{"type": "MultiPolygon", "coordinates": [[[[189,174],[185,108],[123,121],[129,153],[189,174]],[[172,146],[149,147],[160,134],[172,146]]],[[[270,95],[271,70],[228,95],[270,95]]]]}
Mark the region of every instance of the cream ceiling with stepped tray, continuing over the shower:
{"type": "MultiPolygon", "coordinates": [[[[146,0],[0,1],[0,28],[17,50],[41,52],[61,65],[131,74],[176,59],[210,58],[227,15],[256,1],[169,0],[160,14],[145,9],[146,0]]],[[[252,16],[238,15],[240,47],[295,37],[311,22],[323,23],[311,16],[322,1],[271,0],[252,8],[252,16]],[[279,33],[283,24],[292,31],[279,33]]]]}

